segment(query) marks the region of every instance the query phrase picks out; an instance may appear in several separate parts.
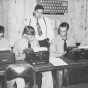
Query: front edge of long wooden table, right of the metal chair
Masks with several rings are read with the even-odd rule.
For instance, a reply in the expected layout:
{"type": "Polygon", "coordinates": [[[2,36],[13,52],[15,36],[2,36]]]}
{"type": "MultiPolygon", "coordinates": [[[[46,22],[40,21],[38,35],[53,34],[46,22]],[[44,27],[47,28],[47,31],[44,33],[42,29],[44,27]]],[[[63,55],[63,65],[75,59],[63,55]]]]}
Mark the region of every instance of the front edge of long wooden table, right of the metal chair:
{"type": "Polygon", "coordinates": [[[86,63],[76,63],[76,64],[68,64],[68,65],[63,65],[63,66],[53,66],[52,64],[47,64],[47,65],[35,65],[34,69],[35,72],[44,72],[44,71],[53,71],[53,70],[62,70],[64,68],[73,68],[73,67],[78,67],[78,66],[87,66],[88,64],[86,63]]]}

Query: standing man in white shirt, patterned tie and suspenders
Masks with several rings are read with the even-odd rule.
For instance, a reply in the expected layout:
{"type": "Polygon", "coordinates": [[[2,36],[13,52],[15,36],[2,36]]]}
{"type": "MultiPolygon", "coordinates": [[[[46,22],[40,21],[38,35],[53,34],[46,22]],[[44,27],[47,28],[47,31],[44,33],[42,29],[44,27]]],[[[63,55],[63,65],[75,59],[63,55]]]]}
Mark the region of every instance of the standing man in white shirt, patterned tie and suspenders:
{"type": "Polygon", "coordinates": [[[47,17],[43,16],[44,8],[42,5],[36,5],[33,13],[33,17],[29,21],[29,25],[33,26],[36,32],[35,38],[39,40],[41,47],[47,46],[47,38],[49,42],[54,37],[54,31],[51,23],[47,17]],[[43,43],[41,43],[44,41],[43,43]]]}

